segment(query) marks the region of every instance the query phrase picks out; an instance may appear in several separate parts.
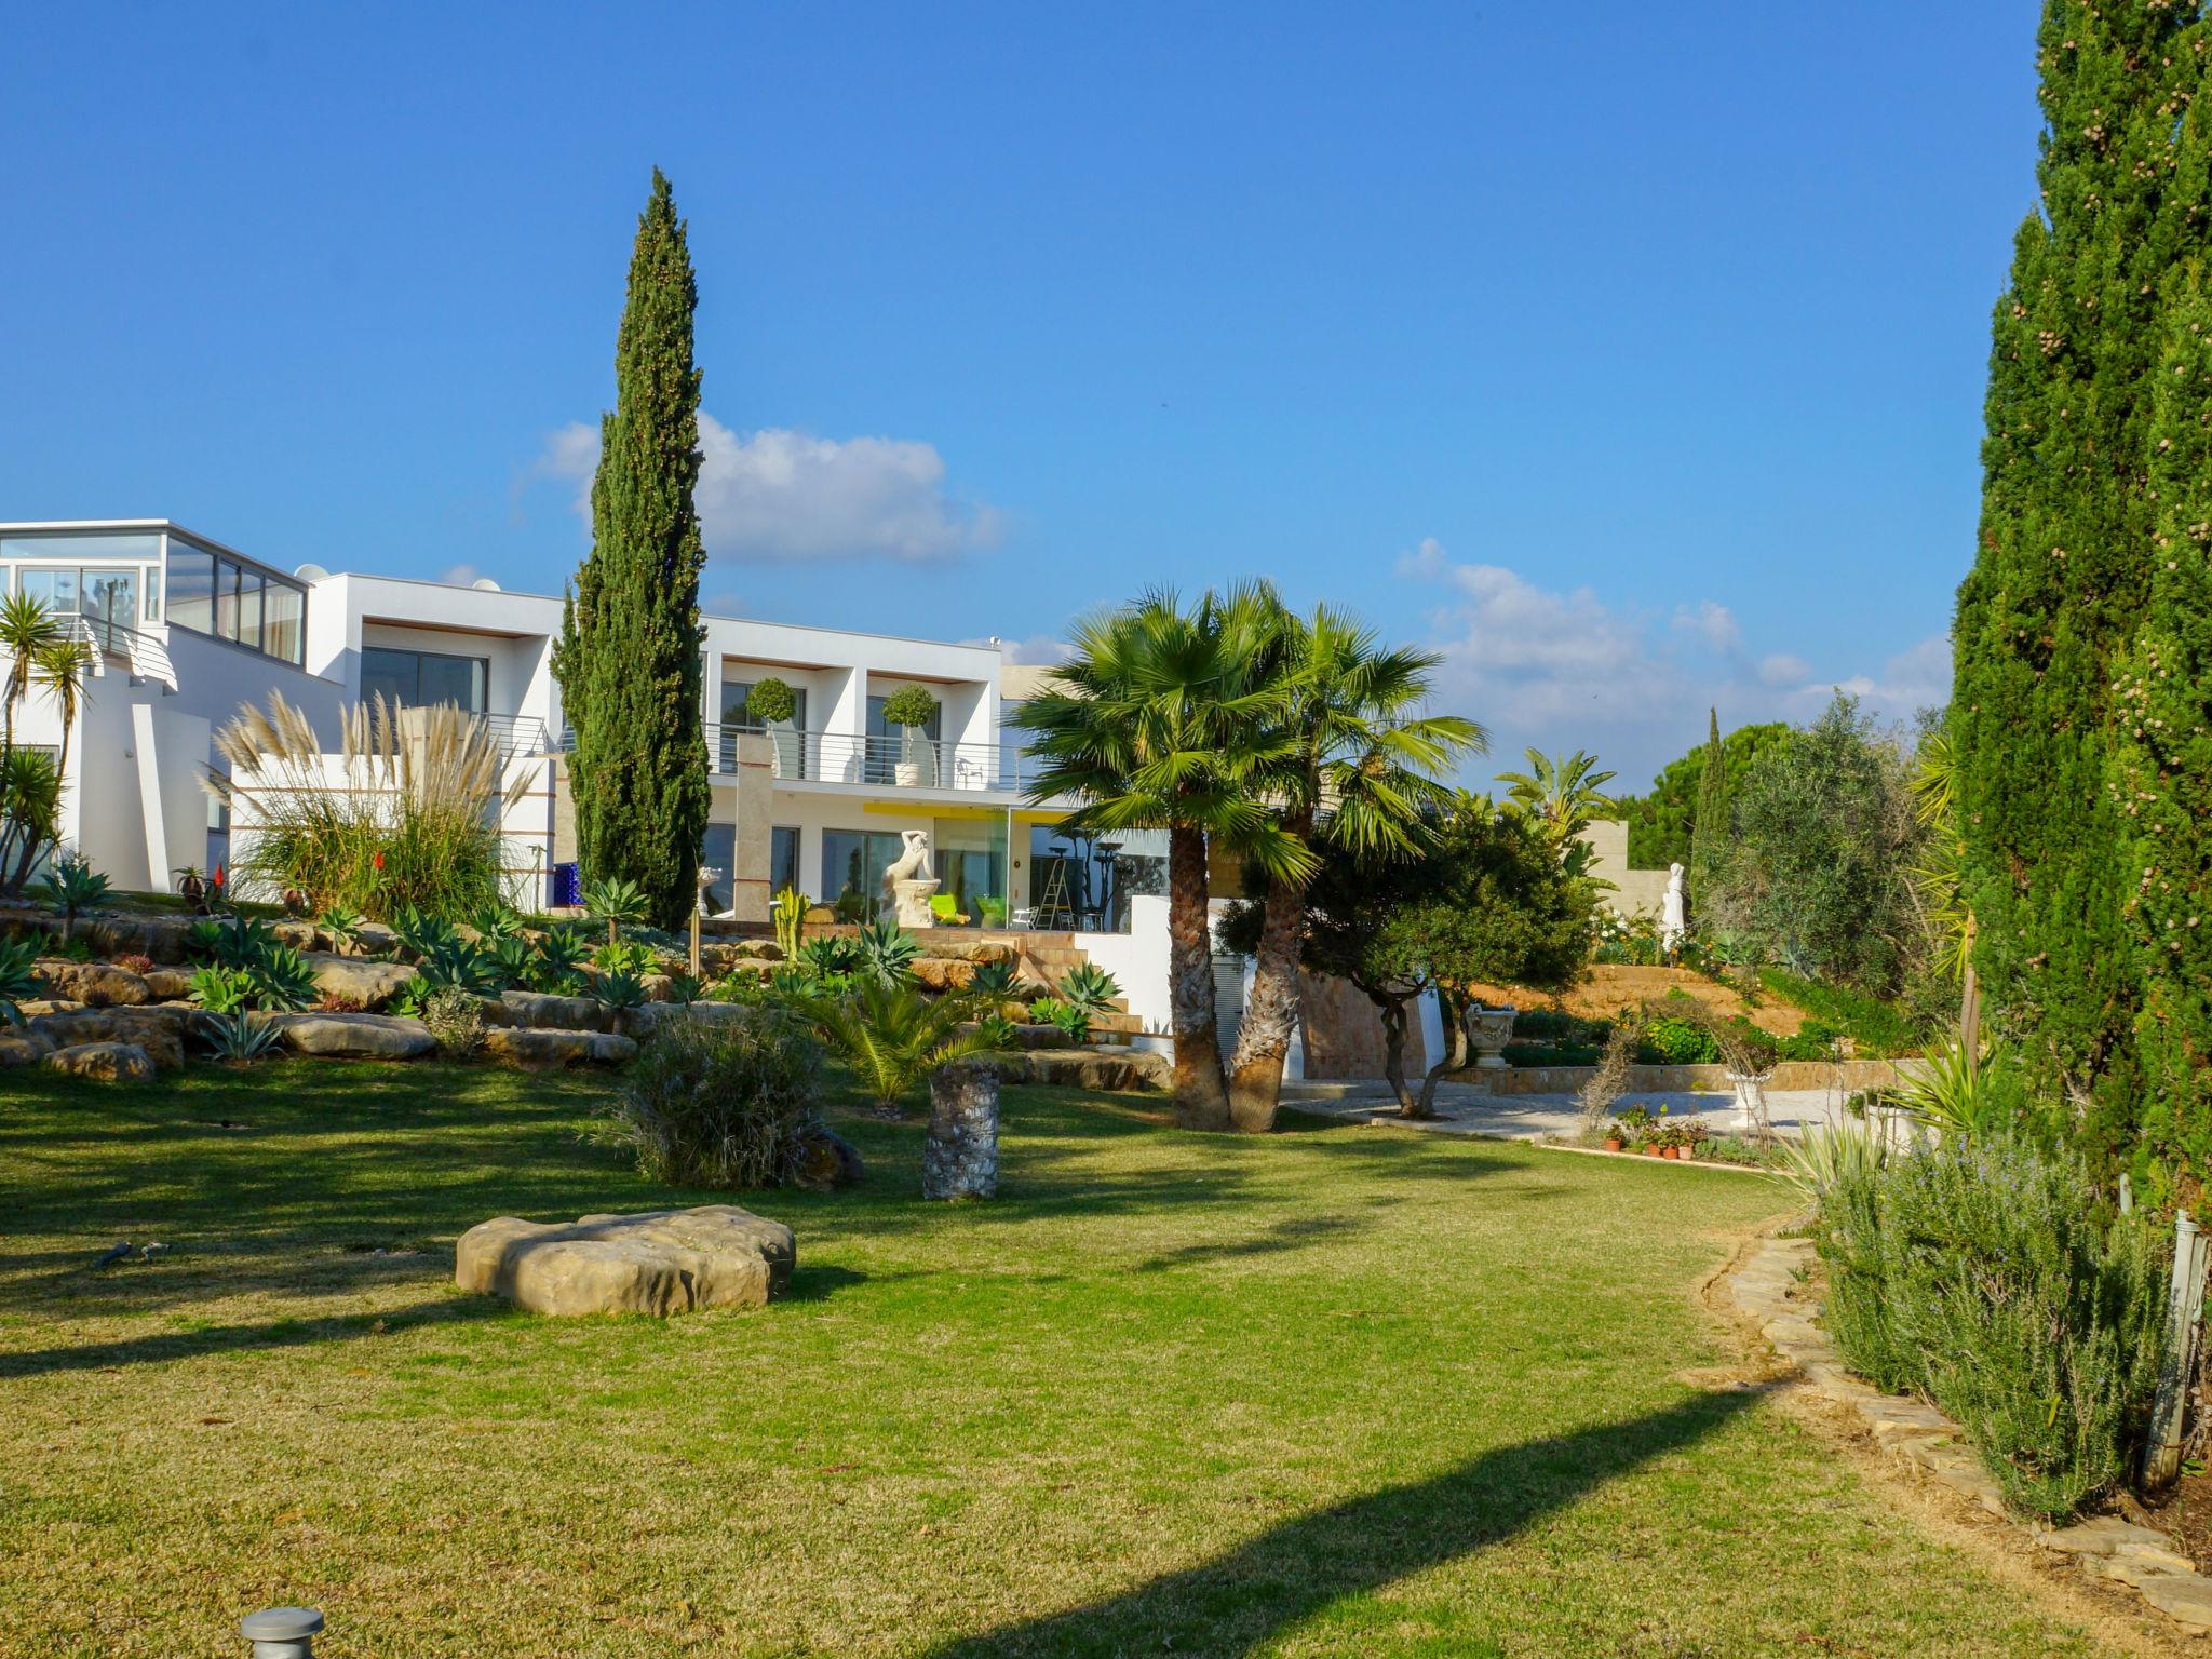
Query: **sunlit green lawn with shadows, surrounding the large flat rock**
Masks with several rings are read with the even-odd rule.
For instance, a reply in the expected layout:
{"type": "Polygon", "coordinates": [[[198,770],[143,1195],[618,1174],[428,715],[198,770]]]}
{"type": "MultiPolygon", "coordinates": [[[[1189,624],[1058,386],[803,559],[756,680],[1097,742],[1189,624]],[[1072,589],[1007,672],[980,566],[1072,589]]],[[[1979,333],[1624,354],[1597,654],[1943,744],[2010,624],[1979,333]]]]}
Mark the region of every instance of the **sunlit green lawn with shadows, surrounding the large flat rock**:
{"type": "Polygon", "coordinates": [[[0,1650],[2106,1652],[1681,1380],[1763,1179],[1024,1088],[991,1206],[867,1119],[865,1188],[754,1199],[776,1307],[453,1292],[484,1217],[710,1197],[582,1144],[602,1088],[0,1073],[0,1650]]]}

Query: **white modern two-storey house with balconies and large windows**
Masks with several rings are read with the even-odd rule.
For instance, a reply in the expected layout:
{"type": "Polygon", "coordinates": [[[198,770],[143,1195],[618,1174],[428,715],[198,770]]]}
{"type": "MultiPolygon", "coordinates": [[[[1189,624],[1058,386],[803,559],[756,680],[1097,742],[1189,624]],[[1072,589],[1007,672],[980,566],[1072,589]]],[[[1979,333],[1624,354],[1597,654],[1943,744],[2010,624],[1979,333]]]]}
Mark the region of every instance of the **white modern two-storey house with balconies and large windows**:
{"type": "MultiPolygon", "coordinates": [[[[228,860],[230,825],[201,787],[219,763],[212,737],[281,692],[332,750],[341,710],[376,697],[487,721],[509,768],[529,772],[504,823],[511,896],[573,900],[557,597],[283,568],[166,520],[0,524],[0,593],[40,597],[97,648],[69,743],[64,843],[117,887],[166,891],[179,869],[228,860]]],[[[1020,697],[1029,679],[995,644],[743,617],[706,617],[703,633],[712,911],[765,920],[790,885],[841,920],[874,916],[905,830],[929,834],[947,925],[1128,933],[1155,911],[1144,900],[1164,891],[1164,847],[1068,836],[1068,803],[1024,803],[1006,688],[1020,697]],[[796,697],[772,728],[748,714],[770,677],[796,697]],[[902,732],[885,701],[909,686],[936,717],[902,732]]],[[[20,737],[60,743],[51,701],[33,695],[20,737]]]]}

